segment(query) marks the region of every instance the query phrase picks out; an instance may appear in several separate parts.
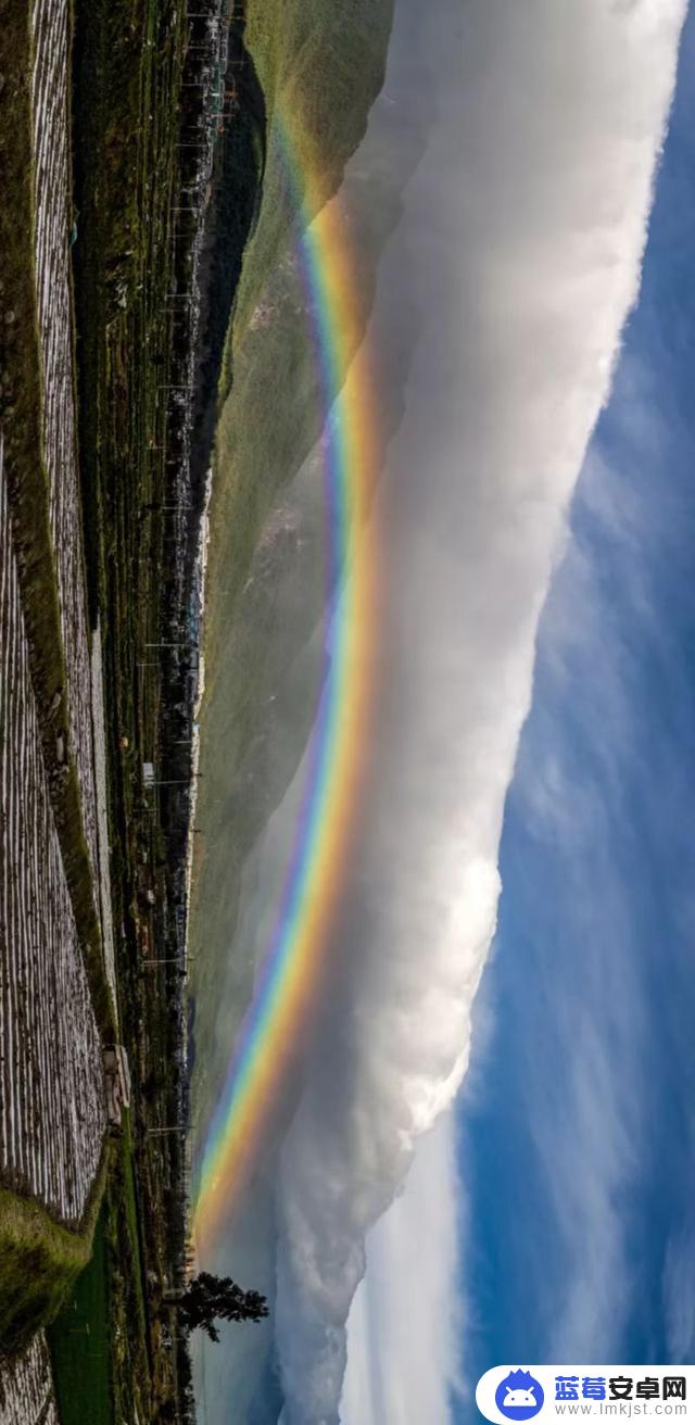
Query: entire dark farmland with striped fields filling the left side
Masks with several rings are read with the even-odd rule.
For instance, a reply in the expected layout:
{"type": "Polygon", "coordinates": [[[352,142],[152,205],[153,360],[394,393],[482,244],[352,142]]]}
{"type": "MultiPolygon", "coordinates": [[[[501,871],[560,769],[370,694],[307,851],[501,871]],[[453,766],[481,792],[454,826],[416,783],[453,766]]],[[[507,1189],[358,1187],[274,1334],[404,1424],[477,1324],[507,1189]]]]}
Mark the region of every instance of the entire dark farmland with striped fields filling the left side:
{"type": "Polygon", "coordinates": [[[141,768],[145,757],[162,767],[167,737],[171,785],[185,782],[179,762],[188,771],[195,658],[178,550],[195,510],[195,370],[179,305],[202,341],[222,3],[188,17],[179,0],[0,0],[11,195],[0,212],[0,294],[11,294],[0,323],[11,355],[0,375],[0,1425],[57,1421],[43,1337],[16,1355],[43,1327],[61,1416],[80,1416],[60,1374],[61,1320],[83,1419],[98,1415],[97,1371],[117,1418],[169,1419],[178,1395],[189,1404],[185,1348],[162,1349],[150,1302],[152,1284],[185,1271],[181,1139],[150,1137],[185,1121],[184,986],[178,966],[141,975],[140,938],[144,926],[152,946],[184,945],[188,788],[145,798],[141,768]],[[174,614],[169,641],[185,657],[155,660],[174,614]],[[160,678],[172,664],[175,687],[160,678]],[[117,1032],[118,998],[134,1073],[120,1144],[104,1143],[100,1040],[117,1032]],[[95,1312],[91,1302],[80,1357],[74,1311],[100,1241],[108,1295],[95,1312]]]}

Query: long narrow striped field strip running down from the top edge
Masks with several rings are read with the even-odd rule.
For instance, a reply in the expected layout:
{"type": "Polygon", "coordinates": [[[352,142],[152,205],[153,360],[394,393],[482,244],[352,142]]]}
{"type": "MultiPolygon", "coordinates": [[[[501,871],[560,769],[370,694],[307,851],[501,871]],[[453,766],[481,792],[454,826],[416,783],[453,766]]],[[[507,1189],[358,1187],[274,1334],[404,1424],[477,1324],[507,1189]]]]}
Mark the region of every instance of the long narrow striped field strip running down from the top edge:
{"type": "Polygon", "coordinates": [[[70,279],[70,4],[34,0],[34,261],[44,388],[44,456],[51,492],[63,646],[71,738],[81,788],[83,821],[98,876],[97,797],[91,722],[70,279]]]}

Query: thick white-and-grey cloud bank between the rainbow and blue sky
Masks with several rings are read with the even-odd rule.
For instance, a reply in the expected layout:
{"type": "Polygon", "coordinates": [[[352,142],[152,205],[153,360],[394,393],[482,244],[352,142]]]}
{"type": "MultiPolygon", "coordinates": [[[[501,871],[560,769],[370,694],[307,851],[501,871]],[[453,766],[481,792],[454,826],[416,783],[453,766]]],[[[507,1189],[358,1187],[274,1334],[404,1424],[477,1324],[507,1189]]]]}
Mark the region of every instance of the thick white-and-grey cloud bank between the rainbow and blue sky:
{"type": "MultiPolygon", "coordinates": [[[[466,1072],[538,616],[638,289],[685,3],[433,0],[423,21],[399,0],[385,101],[403,111],[416,10],[439,118],[383,259],[376,356],[399,292],[417,291],[424,322],[376,512],[376,771],[279,1167],[288,1425],[338,1421],[365,1235],[466,1072]]],[[[403,1273],[407,1234],[389,1221],[383,1260],[403,1273]]],[[[385,1391],[409,1372],[392,1310],[385,1391]]]]}

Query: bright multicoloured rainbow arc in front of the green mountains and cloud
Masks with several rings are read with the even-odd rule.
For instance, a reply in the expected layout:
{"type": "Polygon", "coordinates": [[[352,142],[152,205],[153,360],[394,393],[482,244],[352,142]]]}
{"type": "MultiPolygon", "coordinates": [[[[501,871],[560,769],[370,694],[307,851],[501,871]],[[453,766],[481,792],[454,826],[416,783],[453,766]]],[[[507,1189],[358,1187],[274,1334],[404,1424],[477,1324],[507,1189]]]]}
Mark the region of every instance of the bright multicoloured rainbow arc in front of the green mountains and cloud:
{"type": "Polygon", "coordinates": [[[322,202],[289,123],[275,123],[275,141],[298,214],[298,264],[325,419],[325,577],[332,606],[292,855],[254,1002],[205,1140],[194,1208],[198,1251],[234,1213],[316,1000],[365,772],[375,661],[369,503],[379,432],[365,348],[352,358],[356,276],[339,202],[322,202]]]}

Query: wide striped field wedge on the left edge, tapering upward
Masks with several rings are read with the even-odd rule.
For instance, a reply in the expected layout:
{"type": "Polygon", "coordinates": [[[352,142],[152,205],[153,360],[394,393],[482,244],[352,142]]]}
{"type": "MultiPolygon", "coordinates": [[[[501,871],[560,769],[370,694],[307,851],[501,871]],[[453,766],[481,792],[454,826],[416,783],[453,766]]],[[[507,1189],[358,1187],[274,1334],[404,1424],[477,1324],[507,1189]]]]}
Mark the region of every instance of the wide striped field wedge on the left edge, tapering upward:
{"type": "Polygon", "coordinates": [[[77,1226],[105,1127],[101,1049],[46,785],[1,439],[0,656],[0,1178],[77,1226]]]}

